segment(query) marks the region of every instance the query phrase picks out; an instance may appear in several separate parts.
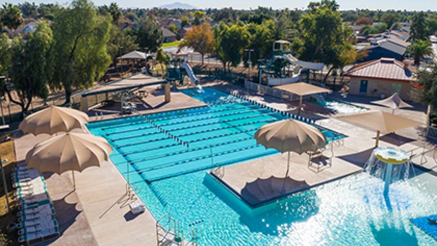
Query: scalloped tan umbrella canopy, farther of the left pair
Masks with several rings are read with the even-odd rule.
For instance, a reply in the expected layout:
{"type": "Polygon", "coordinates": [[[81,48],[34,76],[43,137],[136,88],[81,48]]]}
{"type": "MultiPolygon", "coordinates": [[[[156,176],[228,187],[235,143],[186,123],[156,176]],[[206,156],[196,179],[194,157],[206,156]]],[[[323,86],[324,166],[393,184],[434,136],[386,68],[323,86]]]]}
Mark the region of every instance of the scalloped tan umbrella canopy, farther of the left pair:
{"type": "Polygon", "coordinates": [[[82,128],[88,123],[88,115],[71,108],[50,106],[47,109],[27,116],[19,125],[24,133],[53,135],[58,132],[69,132],[82,128]]]}

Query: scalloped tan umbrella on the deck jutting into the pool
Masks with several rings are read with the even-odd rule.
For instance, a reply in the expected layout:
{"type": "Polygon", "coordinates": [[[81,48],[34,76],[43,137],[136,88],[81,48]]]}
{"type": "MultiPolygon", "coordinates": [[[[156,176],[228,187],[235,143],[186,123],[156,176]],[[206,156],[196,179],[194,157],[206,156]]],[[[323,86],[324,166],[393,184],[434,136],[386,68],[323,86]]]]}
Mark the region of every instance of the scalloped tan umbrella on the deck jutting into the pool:
{"type": "Polygon", "coordinates": [[[287,173],[290,168],[290,152],[299,155],[325,147],[326,137],[317,128],[302,121],[284,119],[262,126],[255,132],[257,144],[281,153],[288,152],[287,173]]]}

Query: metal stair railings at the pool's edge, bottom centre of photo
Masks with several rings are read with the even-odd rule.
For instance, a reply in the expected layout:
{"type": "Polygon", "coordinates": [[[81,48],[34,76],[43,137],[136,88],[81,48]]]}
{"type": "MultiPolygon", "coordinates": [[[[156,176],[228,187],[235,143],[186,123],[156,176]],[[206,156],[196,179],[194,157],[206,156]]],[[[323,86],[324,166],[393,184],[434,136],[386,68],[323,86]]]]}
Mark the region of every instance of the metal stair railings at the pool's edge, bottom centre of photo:
{"type": "Polygon", "coordinates": [[[186,229],[180,227],[179,221],[165,214],[156,221],[158,246],[198,246],[198,231],[196,227],[186,229]]]}

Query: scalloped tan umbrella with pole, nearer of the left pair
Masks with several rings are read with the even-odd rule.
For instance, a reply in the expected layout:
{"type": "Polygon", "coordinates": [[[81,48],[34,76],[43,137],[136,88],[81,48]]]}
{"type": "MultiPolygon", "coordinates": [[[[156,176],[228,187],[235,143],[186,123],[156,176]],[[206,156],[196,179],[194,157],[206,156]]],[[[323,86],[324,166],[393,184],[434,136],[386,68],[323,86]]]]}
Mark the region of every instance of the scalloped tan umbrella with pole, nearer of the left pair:
{"type": "Polygon", "coordinates": [[[85,168],[100,166],[107,161],[113,151],[102,137],[88,133],[65,133],[53,136],[35,145],[26,155],[29,168],[38,172],[55,172],[61,174],[72,171],[82,172],[85,168]]]}

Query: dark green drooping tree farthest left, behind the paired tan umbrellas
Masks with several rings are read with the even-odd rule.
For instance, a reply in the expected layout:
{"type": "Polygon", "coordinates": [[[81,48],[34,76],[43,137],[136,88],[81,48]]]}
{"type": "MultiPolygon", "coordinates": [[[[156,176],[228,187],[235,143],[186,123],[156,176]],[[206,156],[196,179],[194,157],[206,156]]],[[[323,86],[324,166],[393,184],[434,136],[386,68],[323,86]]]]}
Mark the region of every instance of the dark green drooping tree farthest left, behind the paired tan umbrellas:
{"type": "Polygon", "coordinates": [[[47,98],[49,95],[47,81],[51,76],[48,68],[52,42],[52,29],[45,22],[38,22],[35,31],[26,39],[18,36],[13,40],[12,64],[8,73],[18,99],[12,97],[6,85],[3,87],[9,100],[19,105],[23,114],[29,109],[33,97],[47,98]]]}

